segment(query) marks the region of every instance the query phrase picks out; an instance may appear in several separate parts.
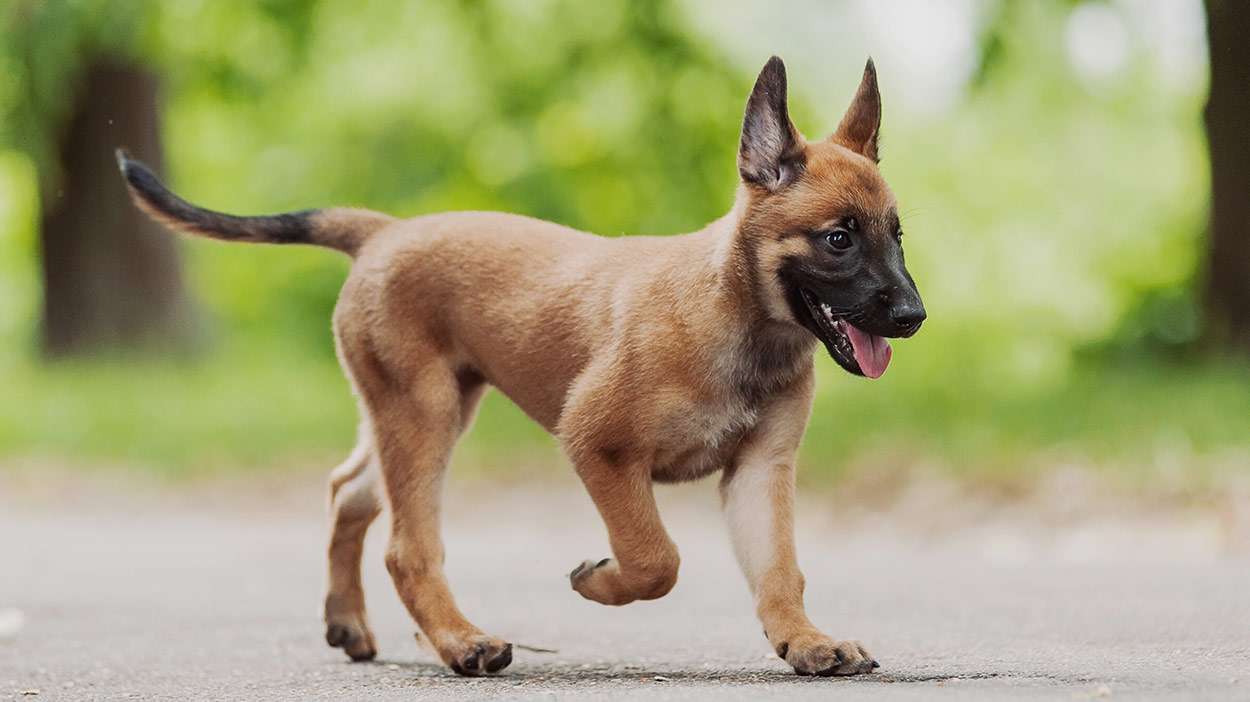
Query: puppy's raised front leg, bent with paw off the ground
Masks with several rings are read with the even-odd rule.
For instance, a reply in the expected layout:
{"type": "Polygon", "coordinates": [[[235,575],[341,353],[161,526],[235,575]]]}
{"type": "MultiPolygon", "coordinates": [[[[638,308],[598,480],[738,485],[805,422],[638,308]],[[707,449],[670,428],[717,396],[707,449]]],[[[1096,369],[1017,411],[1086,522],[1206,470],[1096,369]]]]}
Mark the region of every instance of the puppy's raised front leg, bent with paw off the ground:
{"type": "Polygon", "coordinates": [[[604,518],[614,557],[582,562],[569,581],[602,605],[664,597],[678,582],[681,558],[660,521],[650,466],[612,462],[610,455],[589,451],[574,456],[574,465],[604,518]]]}

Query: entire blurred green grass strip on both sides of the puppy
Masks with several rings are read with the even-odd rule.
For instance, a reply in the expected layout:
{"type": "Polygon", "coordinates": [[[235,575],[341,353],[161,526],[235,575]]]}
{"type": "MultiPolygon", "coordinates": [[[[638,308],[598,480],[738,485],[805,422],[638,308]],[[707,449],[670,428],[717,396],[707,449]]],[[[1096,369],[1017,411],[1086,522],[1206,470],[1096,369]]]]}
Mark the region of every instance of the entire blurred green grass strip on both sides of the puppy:
{"type": "MultiPolygon", "coordinates": [[[[1089,365],[1049,385],[995,387],[899,361],[876,382],[820,361],[802,480],[918,465],[1011,478],[1075,462],[1136,482],[1172,470],[1201,480],[1230,463],[1250,471],[1245,363],[1089,365]]],[[[0,465],[49,461],[174,478],[320,471],[355,436],[355,401],[334,360],[274,346],[198,361],[10,360],[0,363],[0,465]]],[[[456,461],[475,471],[565,470],[554,441],[495,392],[456,461]]]]}

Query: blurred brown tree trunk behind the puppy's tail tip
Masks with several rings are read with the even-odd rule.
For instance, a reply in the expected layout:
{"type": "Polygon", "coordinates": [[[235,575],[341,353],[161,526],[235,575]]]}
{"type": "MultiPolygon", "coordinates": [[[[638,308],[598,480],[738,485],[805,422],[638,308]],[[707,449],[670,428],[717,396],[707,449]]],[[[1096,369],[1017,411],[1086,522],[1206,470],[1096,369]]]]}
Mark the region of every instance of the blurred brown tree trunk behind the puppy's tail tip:
{"type": "Polygon", "coordinates": [[[112,151],[159,166],[156,79],[94,65],[60,140],[61,186],[44,202],[44,352],[179,349],[198,325],[178,244],[130,202],[112,151]]]}

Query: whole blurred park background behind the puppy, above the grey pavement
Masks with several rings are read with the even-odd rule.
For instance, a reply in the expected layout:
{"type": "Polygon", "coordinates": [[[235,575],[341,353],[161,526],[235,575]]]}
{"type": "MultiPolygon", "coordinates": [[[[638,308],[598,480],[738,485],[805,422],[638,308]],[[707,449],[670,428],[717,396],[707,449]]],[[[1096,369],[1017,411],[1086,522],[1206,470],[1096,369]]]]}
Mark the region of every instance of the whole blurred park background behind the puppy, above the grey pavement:
{"type": "MultiPolygon", "coordinates": [[[[880,381],[818,360],[805,483],[1245,480],[1248,20],[1235,0],[8,0],[0,470],[322,473],[352,445],[348,260],[174,237],[130,206],[116,145],[231,212],[676,234],[729,209],[778,54],[809,139],[875,59],[929,307],[880,381]]],[[[566,470],[498,393],[456,461],[566,470]]]]}

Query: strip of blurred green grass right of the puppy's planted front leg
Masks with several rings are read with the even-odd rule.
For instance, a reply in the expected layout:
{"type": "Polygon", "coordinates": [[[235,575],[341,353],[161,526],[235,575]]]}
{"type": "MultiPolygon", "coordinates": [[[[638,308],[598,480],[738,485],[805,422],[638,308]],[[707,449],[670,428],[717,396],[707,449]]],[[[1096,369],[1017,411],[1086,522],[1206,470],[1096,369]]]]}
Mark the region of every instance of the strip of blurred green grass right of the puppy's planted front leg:
{"type": "Polygon", "coordinates": [[[1199,485],[1229,466],[1250,473],[1245,363],[1089,363],[1031,387],[954,373],[879,388],[822,380],[802,451],[809,477],[864,463],[1008,481],[1071,466],[1139,485],[1176,472],[1199,485]]]}

